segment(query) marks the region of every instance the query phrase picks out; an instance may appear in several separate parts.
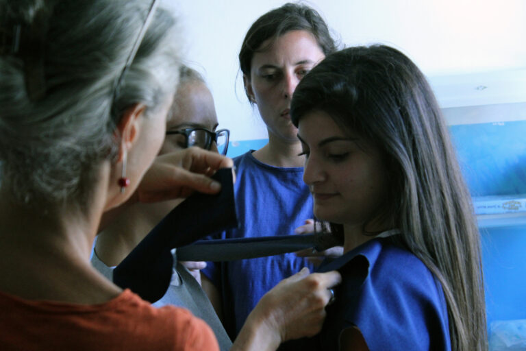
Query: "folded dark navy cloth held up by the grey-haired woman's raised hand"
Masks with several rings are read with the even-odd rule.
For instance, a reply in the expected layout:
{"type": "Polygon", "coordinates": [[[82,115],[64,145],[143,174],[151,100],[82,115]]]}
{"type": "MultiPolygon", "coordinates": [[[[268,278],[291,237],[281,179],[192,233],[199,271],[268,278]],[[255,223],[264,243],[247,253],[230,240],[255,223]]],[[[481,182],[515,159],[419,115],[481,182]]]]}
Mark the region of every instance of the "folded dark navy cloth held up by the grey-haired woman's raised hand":
{"type": "Polygon", "coordinates": [[[220,169],[212,178],[221,182],[221,192],[195,193],[171,210],[114,269],[116,285],[155,302],[170,285],[171,249],[238,225],[232,170],[220,169]]]}

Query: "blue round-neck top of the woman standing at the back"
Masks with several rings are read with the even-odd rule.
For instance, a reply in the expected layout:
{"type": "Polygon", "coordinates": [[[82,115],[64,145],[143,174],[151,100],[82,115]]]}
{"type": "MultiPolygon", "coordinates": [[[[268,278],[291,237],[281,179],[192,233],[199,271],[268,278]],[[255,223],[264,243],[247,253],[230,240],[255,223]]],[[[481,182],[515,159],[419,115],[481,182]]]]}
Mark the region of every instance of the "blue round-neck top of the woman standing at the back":
{"type": "MultiPolygon", "coordinates": [[[[247,152],[234,158],[234,193],[239,228],[212,239],[290,235],[313,218],[312,197],[303,168],[265,165],[247,152]]],[[[223,294],[225,329],[234,339],[260,298],[284,278],[312,265],[295,254],[208,263],[203,273],[223,294]]]]}

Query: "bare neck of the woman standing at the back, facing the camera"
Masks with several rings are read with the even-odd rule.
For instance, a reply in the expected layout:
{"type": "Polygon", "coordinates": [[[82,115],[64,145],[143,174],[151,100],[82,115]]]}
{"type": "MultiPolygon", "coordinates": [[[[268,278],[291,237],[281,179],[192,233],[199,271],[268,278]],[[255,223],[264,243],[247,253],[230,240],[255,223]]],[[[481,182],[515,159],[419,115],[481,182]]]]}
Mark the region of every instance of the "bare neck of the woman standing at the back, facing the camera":
{"type": "Polygon", "coordinates": [[[301,143],[299,140],[285,141],[283,138],[268,134],[268,144],[253,153],[253,156],[265,163],[275,167],[303,167],[305,156],[301,154],[301,143]]]}

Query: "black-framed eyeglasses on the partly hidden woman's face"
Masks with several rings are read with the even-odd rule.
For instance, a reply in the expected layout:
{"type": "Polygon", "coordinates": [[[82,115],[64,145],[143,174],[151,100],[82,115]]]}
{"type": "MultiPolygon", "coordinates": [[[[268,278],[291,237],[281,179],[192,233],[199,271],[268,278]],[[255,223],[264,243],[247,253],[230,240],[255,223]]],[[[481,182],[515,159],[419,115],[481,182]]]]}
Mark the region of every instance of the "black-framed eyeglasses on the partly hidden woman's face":
{"type": "Polygon", "coordinates": [[[185,128],[181,130],[167,130],[166,135],[179,135],[180,140],[175,141],[181,147],[197,146],[201,149],[212,149],[212,142],[216,143],[217,152],[221,155],[227,154],[228,139],[230,131],[221,129],[216,132],[205,128],[185,128]]]}

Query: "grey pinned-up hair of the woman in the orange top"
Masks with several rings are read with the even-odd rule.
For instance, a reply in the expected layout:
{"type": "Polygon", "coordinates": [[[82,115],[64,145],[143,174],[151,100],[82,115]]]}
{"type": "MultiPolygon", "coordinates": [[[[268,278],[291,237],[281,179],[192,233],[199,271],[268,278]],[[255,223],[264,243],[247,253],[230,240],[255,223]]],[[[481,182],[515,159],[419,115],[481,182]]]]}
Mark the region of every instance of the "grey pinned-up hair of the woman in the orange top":
{"type": "Polygon", "coordinates": [[[174,93],[180,40],[158,7],[114,94],[150,5],[0,0],[0,32],[21,28],[20,50],[0,51],[0,179],[17,202],[84,206],[101,161],[116,159],[123,112],[142,103],[151,116],[174,93]]]}

